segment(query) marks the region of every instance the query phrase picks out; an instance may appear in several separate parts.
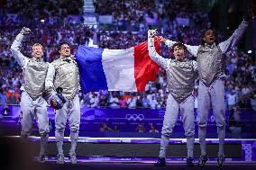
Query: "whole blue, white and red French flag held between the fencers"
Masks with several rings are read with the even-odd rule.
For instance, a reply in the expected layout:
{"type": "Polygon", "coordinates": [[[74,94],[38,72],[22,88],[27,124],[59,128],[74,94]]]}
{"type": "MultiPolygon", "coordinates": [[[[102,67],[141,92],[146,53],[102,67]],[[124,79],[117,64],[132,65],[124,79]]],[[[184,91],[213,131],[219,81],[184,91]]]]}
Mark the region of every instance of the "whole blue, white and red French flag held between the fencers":
{"type": "MultiPolygon", "coordinates": [[[[155,40],[159,53],[159,41],[155,40]]],[[[80,85],[85,93],[99,90],[142,92],[155,80],[159,66],[151,60],[148,42],[130,49],[101,49],[79,46],[75,55],[80,85]]]]}

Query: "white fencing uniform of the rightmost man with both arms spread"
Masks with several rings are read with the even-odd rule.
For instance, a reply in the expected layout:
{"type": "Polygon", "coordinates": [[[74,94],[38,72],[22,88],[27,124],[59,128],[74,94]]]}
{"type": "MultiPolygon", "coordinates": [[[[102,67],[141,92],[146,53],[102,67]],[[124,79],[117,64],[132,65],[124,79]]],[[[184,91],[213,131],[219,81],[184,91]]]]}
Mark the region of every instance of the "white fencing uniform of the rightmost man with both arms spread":
{"type": "MultiPolygon", "coordinates": [[[[218,45],[190,46],[187,50],[195,57],[198,63],[198,137],[201,156],[206,155],[206,126],[208,112],[212,104],[215,116],[218,138],[218,156],[224,156],[225,137],[225,103],[224,103],[224,54],[232,49],[241,39],[248,22],[242,21],[233,35],[218,45]]],[[[172,46],[175,41],[167,40],[166,44],[172,46]]]]}

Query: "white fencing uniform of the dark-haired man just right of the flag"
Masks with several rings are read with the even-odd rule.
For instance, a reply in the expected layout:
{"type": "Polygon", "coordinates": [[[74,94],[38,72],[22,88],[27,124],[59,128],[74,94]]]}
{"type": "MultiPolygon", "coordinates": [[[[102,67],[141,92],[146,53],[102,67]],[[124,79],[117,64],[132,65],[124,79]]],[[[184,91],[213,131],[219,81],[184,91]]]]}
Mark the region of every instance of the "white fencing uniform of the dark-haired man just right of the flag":
{"type": "Polygon", "coordinates": [[[169,96],[161,130],[160,157],[166,157],[169,137],[176,124],[178,112],[181,115],[185,136],[187,137],[187,157],[193,157],[195,116],[194,116],[194,82],[197,72],[197,62],[183,58],[162,58],[156,52],[154,39],[148,39],[149,55],[160,67],[166,70],[169,96]]]}

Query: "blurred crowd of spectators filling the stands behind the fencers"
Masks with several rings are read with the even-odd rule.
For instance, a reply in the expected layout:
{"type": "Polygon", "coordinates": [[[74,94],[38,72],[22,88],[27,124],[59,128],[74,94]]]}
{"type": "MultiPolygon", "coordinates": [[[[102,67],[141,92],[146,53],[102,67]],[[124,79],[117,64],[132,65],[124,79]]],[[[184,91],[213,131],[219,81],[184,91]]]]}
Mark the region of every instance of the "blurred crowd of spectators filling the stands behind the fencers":
{"type": "MultiPolygon", "coordinates": [[[[6,1],[0,8],[0,104],[19,104],[22,68],[18,66],[11,54],[10,47],[23,26],[30,27],[32,32],[23,40],[21,51],[24,56],[31,56],[31,47],[39,42],[44,47],[43,58],[53,61],[59,57],[57,45],[68,41],[72,52],[78,45],[87,45],[89,38],[96,40],[99,47],[107,49],[127,49],[147,40],[147,30],[153,25],[145,22],[145,16],[157,14],[160,34],[167,39],[199,45],[202,30],[210,27],[207,14],[202,13],[192,1],[174,0],[159,1],[155,4],[146,0],[95,1],[96,13],[110,14],[114,17],[111,30],[89,28],[82,23],[74,24],[67,19],[70,14],[82,18],[82,1],[40,1],[23,0],[6,1]],[[68,5],[69,4],[69,5],[68,5]],[[72,5],[72,6],[70,6],[72,5]],[[107,7],[105,7],[107,6],[107,7]],[[191,7],[192,6],[192,7],[191,7]],[[10,15],[15,13],[17,15],[10,15]],[[9,14],[9,15],[8,15],[9,14]],[[176,17],[189,18],[189,26],[180,26],[176,17]],[[13,18],[12,18],[13,17],[13,18]],[[124,26],[123,26],[124,25],[124,26]],[[137,26],[133,29],[132,26],[137,26]],[[120,27],[121,31],[120,31],[120,27]]],[[[103,28],[103,27],[102,27],[103,28]]],[[[219,40],[228,38],[220,33],[219,40]]],[[[163,43],[160,44],[160,55],[171,57],[171,50],[163,43]]],[[[187,54],[187,58],[191,55],[187,54]]],[[[234,48],[226,55],[226,104],[229,109],[233,106],[241,108],[256,105],[256,62],[248,54],[234,48]]],[[[197,99],[197,85],[195,86],[197,99]]],[[[167,81],[164,70],[160,69],[156,81],[149,82],[143,93],[107,92],[83,94],[79,92],[80,103],[83,107],[110,108],[165,108],[167,101],[167,81]]],[[[197,108],[197,105],[195,105],[197,108]]]]}

